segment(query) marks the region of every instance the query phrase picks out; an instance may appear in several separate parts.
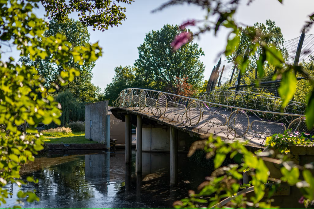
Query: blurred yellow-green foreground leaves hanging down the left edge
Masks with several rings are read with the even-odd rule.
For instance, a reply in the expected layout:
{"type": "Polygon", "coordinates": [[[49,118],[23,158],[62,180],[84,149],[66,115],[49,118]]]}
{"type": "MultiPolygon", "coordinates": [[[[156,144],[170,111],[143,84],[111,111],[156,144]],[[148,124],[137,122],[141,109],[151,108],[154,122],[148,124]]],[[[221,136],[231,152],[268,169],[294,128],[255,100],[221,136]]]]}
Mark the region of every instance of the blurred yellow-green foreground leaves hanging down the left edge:
{"type": "MultiPolygon", "coordinates": [[[[118,2],[129,3],[131,0],[118,2]]],[[[88,0],[81,0],[70,2],[67,8],[64,7],[65,4],[68,5],[66,2],[42,3],[51,17],[55,17],[59,23],[66,20],[68,14],[73,11],[82,15],[85,24],[98,29],[107,29],[108,26],[117,25],[125,19],[125,9],[117,7],[111,1],[92,4],[88,0]]],[[[101,56],[102,49],[98,43],[73,46],[67,37],[60,33],[46,37],[44,32],[49,29],[48,24],[33,13],[33,9],[38,8],[35,2],[4,0],[0,2],[0,8],[0,47],[8,46],[21,50],[20,56],[29,56],[32,61],[37,58],[45,60],[54,54],[50,62],[63,68],[58,80],[45,88],[45,80],[34,66],[20,66],[12,57],[3,60],[2,55],[5,52],[0,51],[0,124],[1,128],[5,129],[0,131],[0,201],[5,203],[9,192],[3,187],[8,181],[18,186],[24,184],[19,174],[21,165],[34,161],[33,155],[43,149],[44,138],[36,129],[29,128],[26,133],[25,130],[20,130],[19,126],[25,121],[35,127],[40,122],[50,124],[53,121],[60,124],[61,105],[50,94],[79,76],[79,71],[68,65],[72,57],[73,62],[79,65],[95,62],[101,56]]],[[[38,182],[33,177],[27,177],[27,181],[38,182]]],[[[18,197],[26,197],[30,202],[39,201],[32,191],[20,190],[18,197]]]]}

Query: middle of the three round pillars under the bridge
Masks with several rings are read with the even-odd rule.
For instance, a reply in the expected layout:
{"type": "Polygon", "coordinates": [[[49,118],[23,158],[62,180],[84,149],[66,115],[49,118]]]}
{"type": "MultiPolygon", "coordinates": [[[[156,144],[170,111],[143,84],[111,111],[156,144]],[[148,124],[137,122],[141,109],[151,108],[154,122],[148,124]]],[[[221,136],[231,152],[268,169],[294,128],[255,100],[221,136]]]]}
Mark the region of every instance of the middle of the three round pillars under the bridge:
{"type": "Polygon", "coordinates": [[[136,123],[136,172],[142,172],[142,156],[143,156],[143,131],[142,131],[142,116],[137,115],[136,123]]]}

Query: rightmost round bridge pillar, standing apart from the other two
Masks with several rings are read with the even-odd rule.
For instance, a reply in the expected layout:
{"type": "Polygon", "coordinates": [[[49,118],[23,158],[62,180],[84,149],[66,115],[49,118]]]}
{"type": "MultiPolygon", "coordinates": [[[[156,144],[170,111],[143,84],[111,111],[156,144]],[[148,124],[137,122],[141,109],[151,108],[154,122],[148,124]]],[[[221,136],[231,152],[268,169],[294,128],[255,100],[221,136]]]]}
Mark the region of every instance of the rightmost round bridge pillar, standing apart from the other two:
{"type": "Polygon", "coordinates": [[[177,156],[178,156],[178,130],[170,127],[170,185],[178,184],[177,175],[177,156]]]}

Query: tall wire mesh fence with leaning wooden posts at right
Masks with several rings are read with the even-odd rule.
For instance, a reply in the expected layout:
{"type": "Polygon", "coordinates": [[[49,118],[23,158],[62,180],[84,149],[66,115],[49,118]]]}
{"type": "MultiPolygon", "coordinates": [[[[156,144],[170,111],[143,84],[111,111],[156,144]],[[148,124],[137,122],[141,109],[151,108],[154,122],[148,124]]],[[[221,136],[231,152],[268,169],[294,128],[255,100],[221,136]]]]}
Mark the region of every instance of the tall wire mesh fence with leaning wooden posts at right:
{"type": "MultiPolygon", "coordinates": [[[[292,40],[285,41],[281,51],[287,64],[293,65],[296,62],[296,64],[304,67],[305,70],[309,72],[310,76],[314,76],[314,34],[305,35],[303,37],[303,44],[302,41],[300,41],[302,35],[292,40]],[[301,45],[301,51],[299,59],[295,59],[299,43],[301,45]]],[[[211,73],[210,82],[208,82],[210,87],[207,88],[207,91],[235,89],[236,85],[239,85],[238,90],[240,91],[263,92],[273,96],[279,96],[278,88],[280,86],[280,80],[273,80],[273,75],[276,71],[275,67],[266,63],[264,65],[264,75],[263,77],[259,77],[256,72],[255,61],[252,59],[251,62],[251,66],[249,66],[242,75],[240,82],[237,82],[240,71],[237,64],[230,60],[219,61],[211,73]]],[[[304,85],[303,75],[298,73],[297,79],[297,86],[304,88],[306,85],[304,85]]],[[[307,90],[303,89],[301,91],[307,90]]],[[[301,92],[296,92],[296,94],[301,94],[301,92]]],[[[302,98],[299,100],[299,102],[304,102],[302,98]]]]}

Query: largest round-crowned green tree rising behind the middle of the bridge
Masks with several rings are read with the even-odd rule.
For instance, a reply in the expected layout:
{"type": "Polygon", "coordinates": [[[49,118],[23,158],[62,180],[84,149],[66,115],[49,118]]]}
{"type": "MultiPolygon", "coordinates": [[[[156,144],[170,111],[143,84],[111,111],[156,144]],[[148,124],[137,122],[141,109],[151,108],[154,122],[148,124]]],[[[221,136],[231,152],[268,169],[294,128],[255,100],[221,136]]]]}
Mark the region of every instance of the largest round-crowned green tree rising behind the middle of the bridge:
{"type": "Polygon", "coordinates": [[[160,30],[146,34],[143,44],[138,47],[139,58],[134,63],[137,67],[135,86],[176,93],[178,81],[183,78],[194,88],[202,86],[205,70],[199,60],[204,56],[202,48],[191,41],[176,52],[172,51],[171,42],[182,31],[177,25],[166,24],[160,30]]]}

